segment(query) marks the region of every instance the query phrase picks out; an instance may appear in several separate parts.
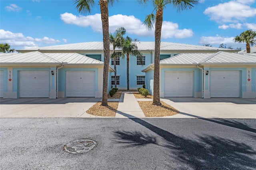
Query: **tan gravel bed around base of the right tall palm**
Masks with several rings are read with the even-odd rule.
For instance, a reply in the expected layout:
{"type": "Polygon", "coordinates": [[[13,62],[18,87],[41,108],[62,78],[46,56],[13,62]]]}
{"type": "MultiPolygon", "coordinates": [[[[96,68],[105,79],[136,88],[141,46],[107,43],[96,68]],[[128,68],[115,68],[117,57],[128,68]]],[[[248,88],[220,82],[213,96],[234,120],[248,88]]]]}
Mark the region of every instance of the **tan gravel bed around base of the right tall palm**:
{"type": "Polygon", "coordinates": [[[138,101],[145,117],[172,116],[180,113],[177,109],[161,101],[161,106],[153,105],[152,101],[138,101]]]}

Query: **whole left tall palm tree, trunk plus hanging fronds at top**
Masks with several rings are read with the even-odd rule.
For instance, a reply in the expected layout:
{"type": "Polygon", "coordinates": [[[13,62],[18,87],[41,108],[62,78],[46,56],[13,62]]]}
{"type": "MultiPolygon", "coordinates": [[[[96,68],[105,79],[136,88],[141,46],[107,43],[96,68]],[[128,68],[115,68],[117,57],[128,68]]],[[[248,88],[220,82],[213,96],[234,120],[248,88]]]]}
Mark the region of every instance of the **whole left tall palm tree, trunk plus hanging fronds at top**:
{"type": "MultiPolygon", "coordinates": [[[[118,0],[116,0],[118,1],[118,0]]],[[[94,0],[74,0],[78,12],[91,13],[91,8],[95,5],[94,0]]],[[[108,4],[113,5],[114,0],[100,0],[100,14],[102,21],[102,32],[103,32],[103,51],[104,51],[104,68],[103,68],[103,88],[102,88],[102,106],[108,105],[108,67],[110,58],[110,47],[109,47],[109,26],[108,26],[108,4]]]]}

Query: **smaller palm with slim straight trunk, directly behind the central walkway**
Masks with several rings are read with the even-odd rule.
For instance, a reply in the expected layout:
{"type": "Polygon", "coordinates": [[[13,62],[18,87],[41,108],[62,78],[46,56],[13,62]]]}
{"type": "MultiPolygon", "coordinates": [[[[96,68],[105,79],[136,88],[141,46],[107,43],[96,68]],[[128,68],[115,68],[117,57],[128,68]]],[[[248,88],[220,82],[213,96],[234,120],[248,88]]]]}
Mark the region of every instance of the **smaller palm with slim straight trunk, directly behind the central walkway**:
{"type": "Polygon", "coordinates": [[[123,57],[124,55],[126,55],[127,90],[129,90],[129,57],[130,55],[134,55],[135,57],[138,57],[140,60],[142,60],[143,54],[138,51],[137,44],[135,42],[132,42],[132,39],[128,36],[125,38],[124,44],[122,45],[122,53],[123,57]]]}

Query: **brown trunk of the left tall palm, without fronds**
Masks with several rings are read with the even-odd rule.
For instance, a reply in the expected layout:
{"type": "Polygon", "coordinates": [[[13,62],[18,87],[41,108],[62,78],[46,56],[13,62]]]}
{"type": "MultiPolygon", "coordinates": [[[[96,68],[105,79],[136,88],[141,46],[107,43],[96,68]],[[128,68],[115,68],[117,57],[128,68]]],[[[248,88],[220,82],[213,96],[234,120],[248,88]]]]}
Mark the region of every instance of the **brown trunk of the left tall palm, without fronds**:
{"type": "Polygon", "coordinates": [[[103,88],[102,88],[102,106],[108,105],[108,67],[110,57],[109,47],[109,29],[108,29],[108,3],[107,0],[100,0],[100,13],[103,30],[103,51],[104,51],[104,68],[103,68],[103,88]]]}

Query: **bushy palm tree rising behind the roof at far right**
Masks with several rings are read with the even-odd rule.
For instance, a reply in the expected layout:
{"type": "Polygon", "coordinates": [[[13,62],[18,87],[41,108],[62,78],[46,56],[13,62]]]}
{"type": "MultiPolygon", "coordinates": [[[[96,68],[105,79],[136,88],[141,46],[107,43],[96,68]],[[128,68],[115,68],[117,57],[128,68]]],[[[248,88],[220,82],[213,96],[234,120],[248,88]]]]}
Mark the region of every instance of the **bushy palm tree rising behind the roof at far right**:
{"type": "Polygon", "coordinates": [[[233,39],[234,42],[246,43],[246,53],[251,52],[250,45],[256,44],[256,31],[246,30],[233,39]]]}

